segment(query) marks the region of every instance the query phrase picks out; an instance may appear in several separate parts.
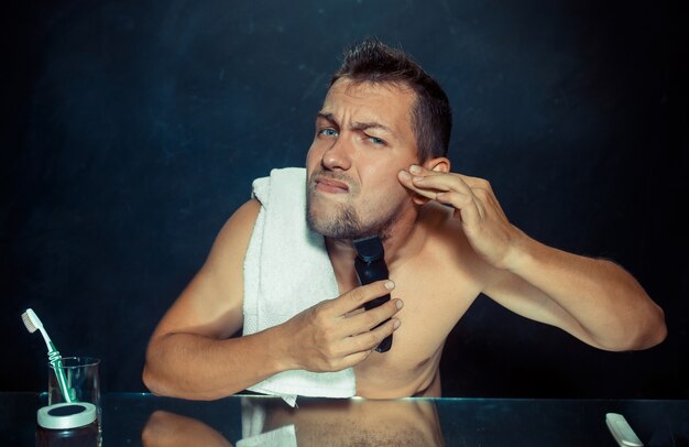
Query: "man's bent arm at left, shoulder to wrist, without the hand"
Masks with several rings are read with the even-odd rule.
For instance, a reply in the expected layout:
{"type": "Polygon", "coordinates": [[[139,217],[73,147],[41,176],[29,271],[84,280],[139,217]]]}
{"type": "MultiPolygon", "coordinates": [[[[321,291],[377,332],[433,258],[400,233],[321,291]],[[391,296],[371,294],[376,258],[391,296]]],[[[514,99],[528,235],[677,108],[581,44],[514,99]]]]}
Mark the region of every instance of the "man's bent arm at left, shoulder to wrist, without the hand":
{"type": "Polygon", "coordinates": [[[281,370],[269,331],[228,339],[242,326],[243,260],[259,210],[251,200],[232,215],[204,266],[155,328],[143,371],[152,392],[215,399],[281,370]]]}

